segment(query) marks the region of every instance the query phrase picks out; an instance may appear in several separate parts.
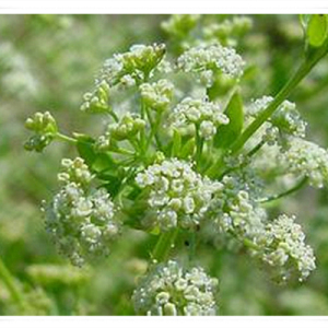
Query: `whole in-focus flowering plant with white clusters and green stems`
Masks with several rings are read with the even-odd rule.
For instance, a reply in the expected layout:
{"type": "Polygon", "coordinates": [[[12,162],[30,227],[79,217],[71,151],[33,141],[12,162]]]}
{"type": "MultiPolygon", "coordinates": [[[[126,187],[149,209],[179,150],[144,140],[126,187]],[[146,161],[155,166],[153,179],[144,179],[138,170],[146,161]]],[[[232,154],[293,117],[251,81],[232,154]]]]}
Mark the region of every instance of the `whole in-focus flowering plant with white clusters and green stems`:
{"type": "Polygon", "coordinates": [[[106,118],[98,137],[66,136],[49,113],[26,121],[34,132],[27,150],[39,152],[59,140],[79,152],[62,161],[61,188],[43,206],[48,232],[73,265],[109,254],[126,229],[157,237],[143,280],[150,288],[141,284],[133,297],[140,314],[215,313],[214,280],[201,268],[186,271],[169,261],[174,257],[195,267],[208,227],[271,267],[278,281],[303,281],[315,269],[295,218],[271,220],[266,207],[306,183],[321,188],[328,181],[327,151],[304,139],[306,122],[288,101],[328,51],[327,15],[303,17],[300,68],[274,97],[248,106],[243,99],[246,62],[226,47],[234,33],[241,34],[237,21],[212,26],[208,38],[188,44],[197,20],[174,16],[164,24],[177,37],[173,57],[163,44],[137,45],[104,63],[81,105],[85,115],[106,118]],[[261,160],[269,156],[273,160],[265,169],[261,160]],[[270,195],[271,185],[286,174],[294,185],[270,195]],[[187,258],[180,239],[190,241],[187,258]]]}

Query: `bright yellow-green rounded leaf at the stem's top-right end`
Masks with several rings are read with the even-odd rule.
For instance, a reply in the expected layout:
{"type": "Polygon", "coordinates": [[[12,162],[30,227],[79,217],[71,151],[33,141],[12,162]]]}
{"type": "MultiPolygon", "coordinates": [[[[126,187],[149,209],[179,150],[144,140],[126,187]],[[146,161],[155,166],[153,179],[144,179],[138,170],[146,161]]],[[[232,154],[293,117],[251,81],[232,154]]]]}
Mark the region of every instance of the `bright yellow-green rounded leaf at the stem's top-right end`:
{"type": "Polygon", "coordinates": [[[314,14],[307,26],[307,42],[312,47],[320,47],[328,37],[328,15],[314,14]]]}

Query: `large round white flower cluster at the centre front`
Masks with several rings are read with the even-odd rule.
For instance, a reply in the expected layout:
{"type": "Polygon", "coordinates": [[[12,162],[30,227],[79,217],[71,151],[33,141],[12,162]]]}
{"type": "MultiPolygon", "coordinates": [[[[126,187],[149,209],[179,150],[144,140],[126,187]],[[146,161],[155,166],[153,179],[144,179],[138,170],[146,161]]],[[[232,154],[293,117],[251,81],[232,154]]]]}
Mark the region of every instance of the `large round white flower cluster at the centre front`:
{"type": "Polygon", "coordinates": [[[222,188],[221,183],[202,178],[189,163],[176,159],[149,166],[136,181],[149,189],[149,215],[163,231],[198,225],[213,194],[222,188]]]}

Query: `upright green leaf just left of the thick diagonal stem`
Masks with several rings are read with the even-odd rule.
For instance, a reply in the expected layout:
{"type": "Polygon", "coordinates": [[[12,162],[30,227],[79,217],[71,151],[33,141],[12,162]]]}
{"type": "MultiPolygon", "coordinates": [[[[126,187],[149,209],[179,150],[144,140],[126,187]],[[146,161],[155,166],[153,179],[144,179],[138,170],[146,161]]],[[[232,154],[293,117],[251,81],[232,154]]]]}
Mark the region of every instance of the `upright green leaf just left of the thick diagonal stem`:
{"type": "Polygon", "coordinates": [[[214,136],[214,145],[216,148],[229,148],[242,133],[244,125],[243,101],[238,91],[231,97],[225,115],[230,122],[226,126],[221,126],[214,136]]]}

